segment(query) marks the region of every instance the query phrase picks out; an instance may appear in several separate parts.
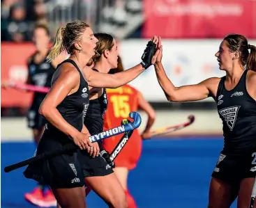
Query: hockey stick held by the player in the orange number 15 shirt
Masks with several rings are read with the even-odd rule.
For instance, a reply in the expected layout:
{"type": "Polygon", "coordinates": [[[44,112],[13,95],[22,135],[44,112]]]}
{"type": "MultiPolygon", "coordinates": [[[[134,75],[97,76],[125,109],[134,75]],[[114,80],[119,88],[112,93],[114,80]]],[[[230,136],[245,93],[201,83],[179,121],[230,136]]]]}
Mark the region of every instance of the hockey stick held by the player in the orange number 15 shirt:
{"type": "Polygon", "coordinates": [[[159,135],[162,135],[162,134],[170,133],[172,131],[177,131],[179,129],[183,129],[183,128],[188,127],[189,125],[191,125],[194,121],[195,121],[195,116],[194,115],[189,115],[187,122],[183,122],[179,125],[175,125],[175,126],[172,126],[172,127],[165,127],[165,128],[157,129],[155,131],[151,131],[151,137],[159,136],[159,135]]]}

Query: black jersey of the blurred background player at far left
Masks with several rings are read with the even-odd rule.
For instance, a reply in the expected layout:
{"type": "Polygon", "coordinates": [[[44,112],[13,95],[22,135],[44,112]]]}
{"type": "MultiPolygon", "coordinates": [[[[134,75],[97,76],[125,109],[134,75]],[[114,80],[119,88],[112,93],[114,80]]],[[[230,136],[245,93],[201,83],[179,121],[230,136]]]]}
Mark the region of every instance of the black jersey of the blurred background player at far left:
{"type": "MultiPolygon", "coordinates": [[[[49,87],[51,86],[52,75],[55,72],[55,68],[51,63],[48,63],[45,59],[40,63],[35,63],[34,58],[38,52],[33,54],[27,63],[29,69],[29,79],[31,84],[40,87],[49,87]]],[[[45,96],[46,93],[35,93],[36,96],[45,96]]]]}

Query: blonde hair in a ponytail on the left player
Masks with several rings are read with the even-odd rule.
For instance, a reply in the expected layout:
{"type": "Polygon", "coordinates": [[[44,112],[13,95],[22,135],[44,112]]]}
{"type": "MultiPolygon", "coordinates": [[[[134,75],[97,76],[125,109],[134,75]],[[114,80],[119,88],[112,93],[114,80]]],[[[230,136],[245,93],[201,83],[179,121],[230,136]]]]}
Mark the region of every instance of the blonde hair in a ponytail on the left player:
{"type": "Polygon", "coordinates": [[[54,45],[47,56],[47,61],[54,60],[65,49],[68,54],[73,54],[73,51],[76,50],[75,42],[80,40],[87,27],[89,27],[89,24],[82,21],[70,22],[66,24],[66,27],[60,27],[57,31],[54,45]]]}

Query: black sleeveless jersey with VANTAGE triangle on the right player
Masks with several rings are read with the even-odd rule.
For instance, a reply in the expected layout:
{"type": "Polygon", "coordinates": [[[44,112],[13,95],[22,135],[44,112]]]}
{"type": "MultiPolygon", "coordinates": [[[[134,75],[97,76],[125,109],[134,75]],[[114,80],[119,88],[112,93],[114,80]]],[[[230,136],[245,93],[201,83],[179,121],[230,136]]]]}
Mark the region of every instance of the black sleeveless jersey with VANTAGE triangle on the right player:
{"type": "Polygon", "coordinates": [[[223,120],[223,154],[240,154],[256,146],[256,101],[246,90],[246,74],[232,90],[225,89],[225,77],[220,79],[216,102],[223,120]]]}

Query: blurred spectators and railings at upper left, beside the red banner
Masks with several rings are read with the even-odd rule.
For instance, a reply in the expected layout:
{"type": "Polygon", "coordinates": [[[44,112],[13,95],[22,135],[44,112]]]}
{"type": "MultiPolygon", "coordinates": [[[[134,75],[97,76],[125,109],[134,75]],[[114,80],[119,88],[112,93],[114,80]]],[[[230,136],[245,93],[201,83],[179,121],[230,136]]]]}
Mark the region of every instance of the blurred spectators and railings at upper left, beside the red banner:
{"type": "MultiPolygon", "coordinates": [[[[66,22],[82,19],[96,30],[123,28],[122,38],[133,36],[142,22],[141,0],[1,0],[1,40],[31,40],[33,26],[49,24],[52,35],[66,22]],[[130,22],[130,17],[140,19],[130,22]],[[133,24],[131,26],[130,24],[133,24]],[[129,26],[126,31],[124,27],[129,26]]],[[[141,31],[136,34],[140,37],[141,31]]]]}

